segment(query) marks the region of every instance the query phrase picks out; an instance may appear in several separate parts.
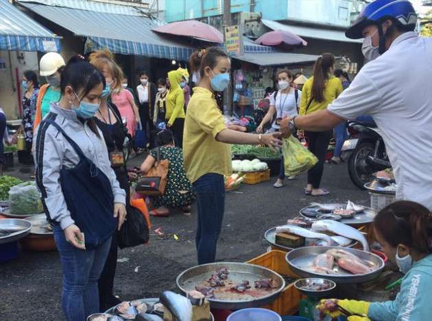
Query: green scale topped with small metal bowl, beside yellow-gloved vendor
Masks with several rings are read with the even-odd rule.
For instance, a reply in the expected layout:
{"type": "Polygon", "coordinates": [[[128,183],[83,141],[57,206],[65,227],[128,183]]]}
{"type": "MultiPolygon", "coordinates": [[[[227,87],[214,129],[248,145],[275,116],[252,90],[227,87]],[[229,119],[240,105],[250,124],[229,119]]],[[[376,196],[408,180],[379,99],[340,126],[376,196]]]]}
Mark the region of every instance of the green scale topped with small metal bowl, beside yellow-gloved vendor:
{"type": "Polygon", "coordinates": [[[320,305],[320,300],[324,297],[329,298],[329,295],[336,287],[336,283],[322,278],[307,278],[300,279],[294,283],[294,286],[301,294],[307,296],[307,298],[302,298],[298,305],[298,315],[303,318],[308,318],[313,321],[331,321],[330,316],[321,316],[320,310],[316,309],[317,305],[320,305]],[[305,290],[304,286],[308,284],[319,283],[328,285],[326,290],[305,290]]]}

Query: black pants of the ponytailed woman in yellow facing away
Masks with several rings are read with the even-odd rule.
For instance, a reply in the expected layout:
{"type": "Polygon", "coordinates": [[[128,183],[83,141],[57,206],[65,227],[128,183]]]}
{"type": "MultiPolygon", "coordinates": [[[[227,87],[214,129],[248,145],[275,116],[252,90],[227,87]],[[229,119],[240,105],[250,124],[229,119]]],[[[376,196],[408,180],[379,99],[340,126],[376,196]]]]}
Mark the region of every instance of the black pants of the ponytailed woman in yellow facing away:
{"type": "Polygon", "coordinates": [[[317,164],[307,172],[307,183],[312,184],[312,188],[320,188],[328,143],[333,136],[333,130],[305,131],[304,136],[309,138],[309,151],[318,159],[317,164]]]}

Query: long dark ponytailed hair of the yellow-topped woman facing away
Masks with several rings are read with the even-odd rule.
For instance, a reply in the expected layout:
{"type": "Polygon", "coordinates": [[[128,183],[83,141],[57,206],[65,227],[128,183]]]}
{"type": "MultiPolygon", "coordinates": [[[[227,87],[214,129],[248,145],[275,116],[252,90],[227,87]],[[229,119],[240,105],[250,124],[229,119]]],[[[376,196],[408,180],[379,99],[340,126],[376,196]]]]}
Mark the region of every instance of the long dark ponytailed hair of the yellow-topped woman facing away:
{"type": "Polygon", "coordinates": [[[336,63],[333,53],[323,53],[317,58],[313,66],[312,99],[317,103],[324,101],[325,81],[329,79],[327,73],[331,66],[336,63]]]}

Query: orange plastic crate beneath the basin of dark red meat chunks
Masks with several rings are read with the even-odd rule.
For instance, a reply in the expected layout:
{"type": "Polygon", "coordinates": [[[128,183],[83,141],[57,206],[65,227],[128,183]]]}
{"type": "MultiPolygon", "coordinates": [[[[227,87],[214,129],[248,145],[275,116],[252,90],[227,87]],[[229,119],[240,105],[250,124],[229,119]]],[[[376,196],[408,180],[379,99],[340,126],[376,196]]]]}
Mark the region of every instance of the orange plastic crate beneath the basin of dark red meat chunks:
{"type": "MultiPolygon", "coordinates": [[[[259,257],[255,257],[246,263],[255,264],[256,266],[263,266],[279,274],[289,275],[300,279],[296,273],[292,272],[285,261],[286,252],[272,250],[259,257]]],[[[298,311],[300,299],[303,298],[302,294],[294,287],[293,283],[287,285],[280,293],[280,296],[269,305],[263,306],[264,309],[275,311],[280,316],[291,316],[298,311]]]]}

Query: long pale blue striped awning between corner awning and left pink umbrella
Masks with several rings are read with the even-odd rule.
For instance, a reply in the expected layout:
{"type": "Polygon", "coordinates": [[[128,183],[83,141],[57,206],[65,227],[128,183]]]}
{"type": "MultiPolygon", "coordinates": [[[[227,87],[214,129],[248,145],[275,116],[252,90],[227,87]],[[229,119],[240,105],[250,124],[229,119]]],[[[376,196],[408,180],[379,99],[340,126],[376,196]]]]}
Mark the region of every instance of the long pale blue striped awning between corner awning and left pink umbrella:
{"type": "Polygon", "coordinates": [[[87,37],[85,52],[108,48],[123,55],[189,60],[196,50],[156,34],[152,29],[160,25],[157,21],[125,5],[82,0],[24,0],[19,3],[72,31],[75,36],[87,37]]]}

